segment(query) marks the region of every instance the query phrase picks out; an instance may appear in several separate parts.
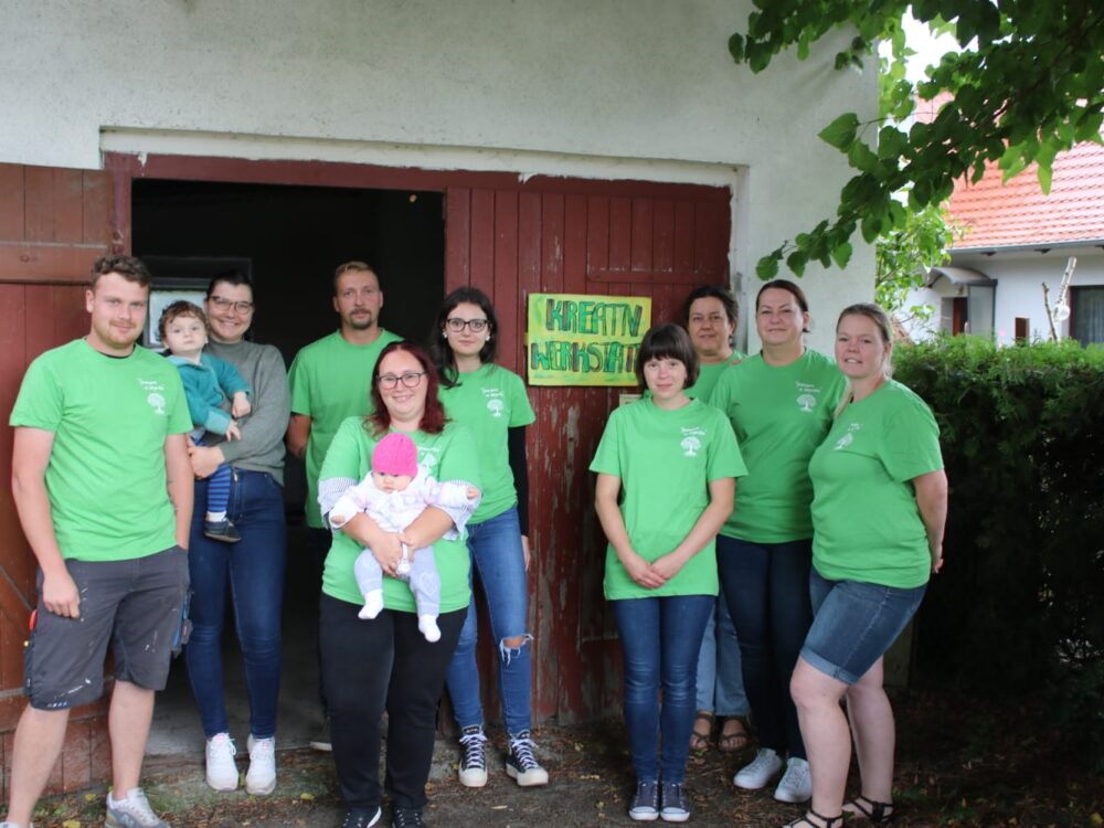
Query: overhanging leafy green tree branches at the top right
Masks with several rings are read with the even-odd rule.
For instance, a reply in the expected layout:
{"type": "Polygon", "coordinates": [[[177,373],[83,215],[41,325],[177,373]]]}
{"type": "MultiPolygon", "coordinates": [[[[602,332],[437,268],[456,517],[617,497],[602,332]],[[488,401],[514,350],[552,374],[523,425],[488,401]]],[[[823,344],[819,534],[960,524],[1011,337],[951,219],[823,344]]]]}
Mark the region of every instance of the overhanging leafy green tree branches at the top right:
{"type": "Polygon", "coordinates": [[[1085,0],[1048,3],[998,0],[756,0],[747,31],[733,34],[729,51],[753,72],[774,55],[809,47],[832,29],[850,34],[835,60],[837,68],[862,65],[879,40],[890,43],[879,81],[882,118],[877,147],[853,113],[834,119],[819,137],[857,170],[840,192],[834,221],[821,222],[793,244],[765,257],[756,273],[777,274],[783,261],[800,275],[809,262],[846,266],[849,238],[867,241],[907,233],[919,216],[945,201],[956,179],[980,178],[998,161],[1005,178],[1032,163],[1049,191],[1057,155],[1078,141],[1101,141],[1104,124],[1104,4],[1085,0]],[[905,76],[909,55],[902,15],[910,9],[933,31],[952,31],[967,51],[945,54],[925,81],[905,76]],[[975,42],[976,39],[976,42],[975,42]],[[917,120],[905,131],[919,96],[949,93],[933,123],[917,120]],[[898,193],[907,208],[898,201],[898,193]],[[847,245],[846,247],[843,245],[847,245]],[[795,255],[795,254],[802,255],[795,255]],[[842,263],[842,264],[841,264],[842,263]]]}

